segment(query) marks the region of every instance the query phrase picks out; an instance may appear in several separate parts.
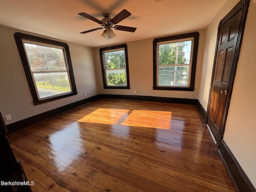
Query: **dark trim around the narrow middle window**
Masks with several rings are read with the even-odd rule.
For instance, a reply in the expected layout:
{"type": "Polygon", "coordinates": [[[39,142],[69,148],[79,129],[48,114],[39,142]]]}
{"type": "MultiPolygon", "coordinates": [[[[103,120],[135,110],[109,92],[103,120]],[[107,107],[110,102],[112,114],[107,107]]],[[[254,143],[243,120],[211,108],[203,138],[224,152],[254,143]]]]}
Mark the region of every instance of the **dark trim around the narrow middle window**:
{"type": "Polygon", "coordinates": [[[126,44],[121,44],[121,45],[116,45],[116,46],[100,48],[100,63],[101,63],[101,70],[102,70],[102,78],[103,78],[103,87],[104,87],[104,89],[130,89],[128,51],[127,51],[127,45],[126,44]],[[127,80],[127,85],[126,86],[107,86],[103,51],[107,51],[107,50],[113,50],[114,51],[115,49],[120,49],[120,48],[124,48],[125,63],[126,63],[126,80],[127,80]]]}

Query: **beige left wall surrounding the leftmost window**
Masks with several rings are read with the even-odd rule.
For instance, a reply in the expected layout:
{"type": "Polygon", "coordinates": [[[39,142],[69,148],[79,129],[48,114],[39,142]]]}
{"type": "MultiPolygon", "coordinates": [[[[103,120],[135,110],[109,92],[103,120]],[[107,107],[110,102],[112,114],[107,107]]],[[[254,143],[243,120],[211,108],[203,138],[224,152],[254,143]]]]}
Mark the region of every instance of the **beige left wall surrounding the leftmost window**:
{"type": "MultiPolygon", "coordinates": [[[[0,26],[0,111],[3,117],[7,114],[12,117],[12,120],[5,121],[6,124],[98,94],[94,75],[93,49],[67,42],[78,95],[34,106],[14,40],[15,32],[22,31],[0,26]],[[85,92],[87,96],[85,96],[85,92]]],[[[31,34],[29,32],[24,33],[31,34]]]]}

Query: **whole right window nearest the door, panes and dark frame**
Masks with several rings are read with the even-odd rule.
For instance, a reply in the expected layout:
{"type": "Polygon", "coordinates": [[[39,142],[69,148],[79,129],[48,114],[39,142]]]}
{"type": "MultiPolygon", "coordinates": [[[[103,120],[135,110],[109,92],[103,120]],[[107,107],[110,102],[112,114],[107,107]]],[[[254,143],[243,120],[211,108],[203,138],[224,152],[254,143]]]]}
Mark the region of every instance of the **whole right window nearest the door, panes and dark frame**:
{"type": "Polygon", "coordinates": [[[153,41],[153,89],[194,91],[199,33],[153,41]]]}

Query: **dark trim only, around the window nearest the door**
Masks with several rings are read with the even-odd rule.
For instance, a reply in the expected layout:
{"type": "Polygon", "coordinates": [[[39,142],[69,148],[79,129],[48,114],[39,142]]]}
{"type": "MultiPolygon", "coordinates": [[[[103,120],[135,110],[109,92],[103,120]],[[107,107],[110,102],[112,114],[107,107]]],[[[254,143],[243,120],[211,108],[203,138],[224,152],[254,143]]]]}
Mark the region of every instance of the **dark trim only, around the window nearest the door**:
{"type": "Polygon", "coordinates": [[[192,32],[180,35],[173,35],[162,38],[155,38],[153,41],[153,90],[179,90],[179,91],[194,91],[195,78],[196,78],[196,61],[197,61],[197,52],[198,52],[198,42],[199,42],[199,33],[192,32]],[[171,86],[157,86],[157,43],[170,41],[170,40],[179,40],[184,38],[194,38],[194,46],[192,53],[192,66],[191,66],[191,77],[190,77],[190,86],[189,87],[171,87],[171,86]]]}

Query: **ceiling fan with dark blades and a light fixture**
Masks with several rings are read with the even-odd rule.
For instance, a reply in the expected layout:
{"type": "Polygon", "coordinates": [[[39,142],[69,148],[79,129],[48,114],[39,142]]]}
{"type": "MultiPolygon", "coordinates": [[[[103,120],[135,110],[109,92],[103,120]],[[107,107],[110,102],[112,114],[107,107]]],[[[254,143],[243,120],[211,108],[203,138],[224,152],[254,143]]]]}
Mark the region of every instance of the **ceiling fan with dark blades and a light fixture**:
{"type": "Polygon", "coordinates": [[[128,12],[126,9],[122,10],[120,13],[118,13],[116,16],[114,16],[114,18],[111,18],[111,15],[109,13],[104,13],[102,20],[98,20],[97,18],[95,18],[87,13],[84,13],[84,12],[78,13],[78,15],[88,18],[102,26],[102,27],[98,27],[95,29],[80,32],[82,34],[96,31],[96,30],[105,29],[101,36],[103,36],[104,38],[107,38],[107,39],[111,39],[116,36],[116,34],[114,34],[114,31],[111,28],[114,28],[115,30],[128,31],[128,32],[135,32],[135,30],[137,29],[135,27],[116,25],[120,21],[124,20],[125,18],[127,18],[131,15],[131,13],[128,12]]]}

